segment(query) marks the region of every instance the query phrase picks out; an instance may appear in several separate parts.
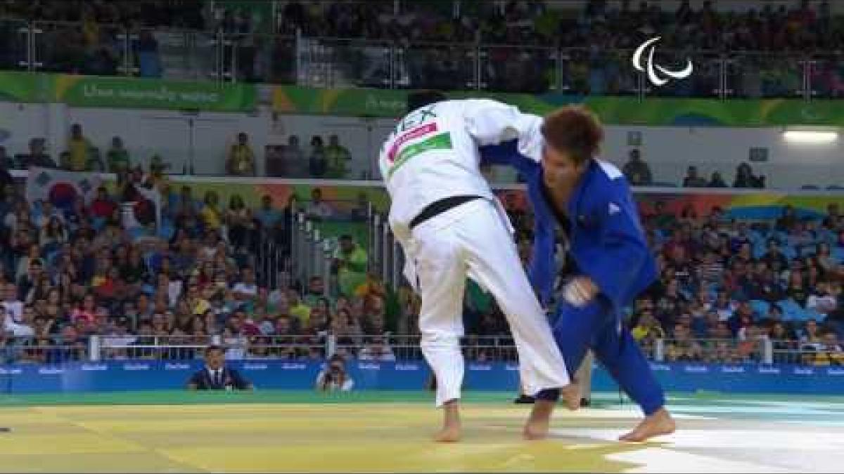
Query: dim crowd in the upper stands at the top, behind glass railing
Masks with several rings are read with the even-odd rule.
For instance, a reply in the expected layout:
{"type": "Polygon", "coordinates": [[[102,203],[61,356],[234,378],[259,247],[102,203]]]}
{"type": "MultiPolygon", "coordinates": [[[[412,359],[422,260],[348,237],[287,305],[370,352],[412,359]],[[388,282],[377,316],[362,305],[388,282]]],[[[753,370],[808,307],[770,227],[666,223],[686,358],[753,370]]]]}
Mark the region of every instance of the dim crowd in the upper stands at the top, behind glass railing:
{"type": "MultiPolygon", "coordinates": [[[[804,67],[800,54],[815,55],[809,74],[813,95],[844,93],[842,58],[836,52],[844,46],[844,24],[830,12],[829,0],[760,4],[746,12],[725,10],[728,5],[717,9],[710,1],[700,8],[683,1],[592,0],[585,8],[550,0],[461,2],[459,8],[451,2],[400,2],[397,12],[392,2],[292,0],[279,3],[273,19],[266,18],[272,8],[212,9],[208,5],[179,0],[19,0],[3,3],[0,17],[78,22],[78,27],[42,29],[46,45],[39,49],[38,60],[47,71],[68,73],[127,73],[122,69],[124,46],[119,28],[133,28],[138,29],[131,46],[135,73],[160,77],[171,67],[170,73],[181,72],[186,78],[197,78],[197,74],[207,78],[214,67],[197,64],[209,61],[208,50],[191,50],[183,38],[170,37],[167,30],[184,27],[233,35],[238,45],[233,73],[238,80],[295,83],[302,74],[295,70],[296,46],[291,38],[300,31],[306,37],[390,41],[403,48],[396,59],[398,67],[385,62],[383,51],[349,46],[349,41],[329,41],[309,55],[309,61],[336,69],[334,75],[349,76],[348,85],[385,87],[392,83],[394,87],[435,89],[480,85],[510,92],[559,89],[576,94],[636,94],[639,83],[630,69],[630,51],[659,35],[663,62],[685,62],[695,51],[695,75],[652,91],[654,94],[799,95],[804,67]],[[278,36],[271,38],[270,34],[278,36]],[[476,42],[489,46],[479,59],[479,78],[475,78],[473,63],[478,58],[472,59],[476,42]],[[506,47],[496,47],[500,45],[506,47]],[[538,46],[572,49],[558,67],[553,55],[538,46]],[[718,55],[722,52],[739,56],[721,62],[718,55]],[[197,64],[188,65],[185,57],[194,56],[196,61],[190,62],[197,64]],[[727,77],[723,91],[722,67],[727,77]],[[396,75],[393,81],[391,70],[396,75]],[[475,83],[478,80],[480,84],[475,83]]],[[[0,50],[5,48],[0,51],[2,67],[19,67],[18,56],[25,50],[19,45],[19,25],[3,28],[0,36],[8,41],[0,46],[0,50]]],[[[197,44],[207,40],[197,37],[197,44]]]]}

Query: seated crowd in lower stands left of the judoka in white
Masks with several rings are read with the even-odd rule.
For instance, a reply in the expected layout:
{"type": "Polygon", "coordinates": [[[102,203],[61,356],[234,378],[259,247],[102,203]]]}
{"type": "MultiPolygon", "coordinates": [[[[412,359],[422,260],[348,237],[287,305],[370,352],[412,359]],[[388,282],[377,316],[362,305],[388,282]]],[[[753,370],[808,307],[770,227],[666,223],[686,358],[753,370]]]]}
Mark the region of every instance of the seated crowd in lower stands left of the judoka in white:
{"type": "MultiPolygon", "coordinates": [[[[227,203],[215,191],[195,197],[190,186],[170,186],[160,170],[136,171],[117,188],[102,186],[92,202],[77,197],[68,207],[28,202],[8,171],[0,172],[0,345],[7,361],[85,358],[94,334],[104,336],[106,358],[190,358],[200,352],[164,355],[149,345],[157,337],[205,345],[211,336],[221,337],[231,358],[317,357],[326,331],[351,338],[349,353],[389,355],[383,336],[398,330],[408,304],[366,272],[367,251],[353,237],[339,239],[332,282],[311,277],[268,287],[257,247],[271,239],[289,256],[285,203],[266,196],[251,209],[236,195],[227,203]],[[122,219],[119,204],[134,200],[138,186],[164,193],[169,230],[159,237],[138,238],[122,219]],[[342,296],[325,298],[328,284],[342,296]]],[[[331,217],[324,207],[311,202],[307,211],[331,217]]]]}

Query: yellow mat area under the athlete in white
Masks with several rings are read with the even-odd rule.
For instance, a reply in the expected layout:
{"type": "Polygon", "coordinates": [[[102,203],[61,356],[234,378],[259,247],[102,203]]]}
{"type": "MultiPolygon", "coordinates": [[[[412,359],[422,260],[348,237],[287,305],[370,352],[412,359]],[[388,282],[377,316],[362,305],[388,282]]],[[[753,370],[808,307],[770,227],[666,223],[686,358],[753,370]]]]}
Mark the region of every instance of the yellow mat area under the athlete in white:
{"type": "MultiPolygon", "coordinates": [[[[13,431],[0,434],[0,471],[621,471],[631,466],[606,460],[619,451],[616,444],[522,441],[524,407],[467,407],[464,441],[436,444],[430,434],[439,414],[428,406],[384,403],[5,408],[0,419],[13,431]]],[[[586,412],[559,418],[555,425],[582,426],[589,419],[586,412]]]]}

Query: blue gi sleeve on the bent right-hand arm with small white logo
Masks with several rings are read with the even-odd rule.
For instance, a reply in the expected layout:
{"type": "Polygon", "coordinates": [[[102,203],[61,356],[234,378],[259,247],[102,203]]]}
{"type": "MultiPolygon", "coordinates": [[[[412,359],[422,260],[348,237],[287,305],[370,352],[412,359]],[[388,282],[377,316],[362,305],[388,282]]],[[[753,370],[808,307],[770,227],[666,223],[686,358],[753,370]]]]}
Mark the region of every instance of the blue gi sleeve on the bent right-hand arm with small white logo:
{"type": "Polygon", "coordinates": [[[629,189],[618,183],[610,190],[592,208],[599,241],[586,260],[588,276],[604,296],[621,307],[641,286],[639,280],[646,277],[642,269],[652,256],[629,189]]]}

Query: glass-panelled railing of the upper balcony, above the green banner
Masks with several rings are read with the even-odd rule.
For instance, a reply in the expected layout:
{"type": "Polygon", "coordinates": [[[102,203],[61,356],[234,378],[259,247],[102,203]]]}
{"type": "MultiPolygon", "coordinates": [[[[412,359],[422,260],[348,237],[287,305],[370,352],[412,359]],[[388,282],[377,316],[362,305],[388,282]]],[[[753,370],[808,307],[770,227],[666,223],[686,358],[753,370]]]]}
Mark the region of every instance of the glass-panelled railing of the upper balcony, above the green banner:
{"type": "Polygon", "coordinates": [[[295,83],[322,88],[495,90],[679,97],[841,97],[838,51],[657,51],[695,73],[652,88],[629,49],[393,41],[95,27],[0,19],[0,67],[26,71],[295,83]]]}

